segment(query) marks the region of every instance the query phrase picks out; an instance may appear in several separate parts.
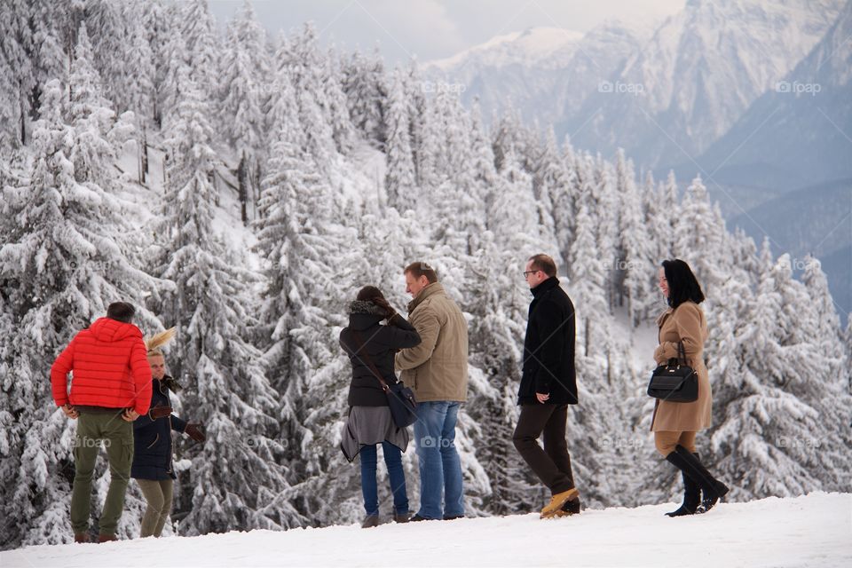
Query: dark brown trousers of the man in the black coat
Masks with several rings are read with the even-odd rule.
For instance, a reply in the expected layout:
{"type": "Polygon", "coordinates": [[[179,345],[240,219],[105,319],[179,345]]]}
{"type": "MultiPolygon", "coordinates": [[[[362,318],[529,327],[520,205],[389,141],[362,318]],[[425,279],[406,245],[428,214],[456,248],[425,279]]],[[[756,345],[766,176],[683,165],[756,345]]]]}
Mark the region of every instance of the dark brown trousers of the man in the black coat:
{"type": "Polygon", "coordinates": [[[568,442],[565,441],[567,419],[568,405],[523,405],[515,434],[512,435],[517,452],[554,495],[574,486],[571,456],[568,455],[568,442]],[[539,446],[542,433],[543,450],[539,446]]]}

